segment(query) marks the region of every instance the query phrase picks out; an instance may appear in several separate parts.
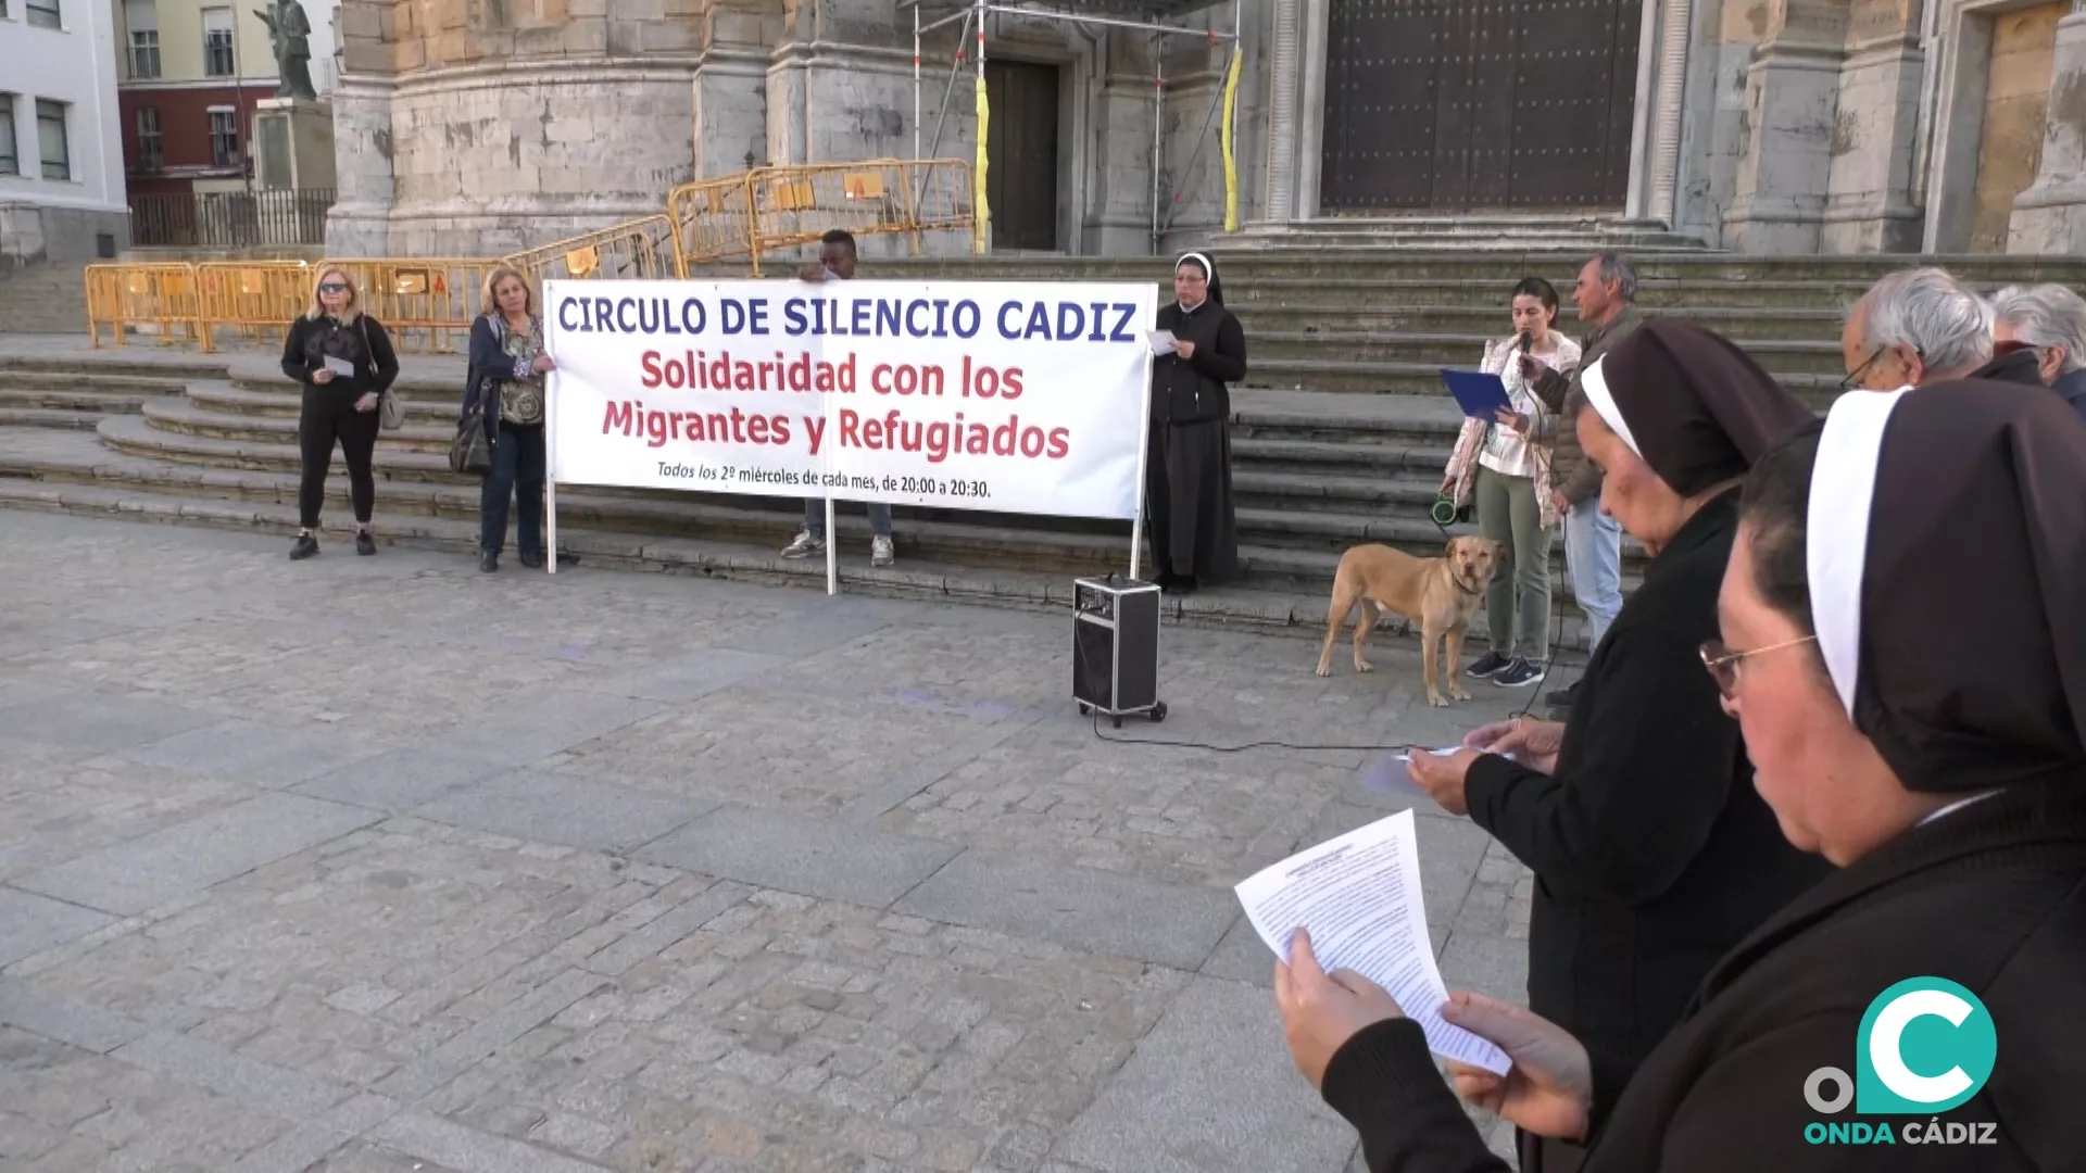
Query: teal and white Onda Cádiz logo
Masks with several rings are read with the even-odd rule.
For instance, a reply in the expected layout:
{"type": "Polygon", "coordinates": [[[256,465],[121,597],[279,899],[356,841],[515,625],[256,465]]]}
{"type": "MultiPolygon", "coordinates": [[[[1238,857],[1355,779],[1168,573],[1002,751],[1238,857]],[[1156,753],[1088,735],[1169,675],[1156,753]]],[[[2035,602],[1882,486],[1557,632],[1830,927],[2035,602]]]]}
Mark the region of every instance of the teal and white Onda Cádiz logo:
{"type": "Polygon", "coordinates": [[[1927,1117],[1925,1121],[1811,1121],[1811,1144],[1998,1144],[1998,1125],[1942,1121],[1992,1077],[1998,1031],[1975,994],[1944,977],[1909,977],[1869,1002],[1854,1033],[1854,1077],[1821,1067],[1804,1079],[1804,1102],[1834,1117],[1927,1117]]]}

